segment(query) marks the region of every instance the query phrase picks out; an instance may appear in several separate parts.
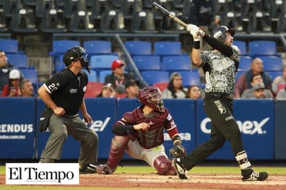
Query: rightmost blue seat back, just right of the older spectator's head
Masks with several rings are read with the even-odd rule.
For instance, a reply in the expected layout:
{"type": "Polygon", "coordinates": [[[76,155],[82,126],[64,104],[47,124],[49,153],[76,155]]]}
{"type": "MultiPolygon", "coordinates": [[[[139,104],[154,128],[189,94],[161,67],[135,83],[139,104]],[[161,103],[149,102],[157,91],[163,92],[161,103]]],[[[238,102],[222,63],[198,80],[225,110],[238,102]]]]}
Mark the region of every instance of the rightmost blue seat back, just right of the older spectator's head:
{"type": "Polygon", "coordinates": [[[260,56],[263,62],[264,71],[282,71],[283,62],[281,57],[277,56],[260,56]]]}

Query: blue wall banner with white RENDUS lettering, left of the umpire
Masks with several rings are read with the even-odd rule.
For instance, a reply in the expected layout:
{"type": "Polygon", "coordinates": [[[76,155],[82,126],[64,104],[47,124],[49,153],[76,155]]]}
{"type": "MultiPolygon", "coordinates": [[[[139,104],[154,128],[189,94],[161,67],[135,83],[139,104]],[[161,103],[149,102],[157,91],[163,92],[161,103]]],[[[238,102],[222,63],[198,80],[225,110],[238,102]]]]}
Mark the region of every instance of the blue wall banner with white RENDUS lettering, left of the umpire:
{"type": "Polygon", "coordinates": [[[0,98],[1,159],[35,157],[35,98],[0,98]]]}

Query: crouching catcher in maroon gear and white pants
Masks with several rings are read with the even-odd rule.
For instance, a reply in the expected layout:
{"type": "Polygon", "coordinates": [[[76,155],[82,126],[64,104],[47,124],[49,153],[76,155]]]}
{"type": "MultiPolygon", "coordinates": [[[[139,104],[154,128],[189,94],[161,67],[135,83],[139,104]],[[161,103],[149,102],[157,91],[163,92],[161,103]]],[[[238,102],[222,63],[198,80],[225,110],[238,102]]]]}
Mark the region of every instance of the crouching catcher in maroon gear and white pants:
{"type": "Polygon", "coordinates": [[[108,162],[96,166],[101,174],[111,174],[117,169],[125,151],[135,159],[142,159],[152,166],[159,175],[175,175],[176,170],[165,153],[164,130],[171,137],[174,148],[170,153],[174,157],[185,154],[180,135],[169,111],[164,107],[160,89],[144,87],[139,90],[139,101],[142,103],[133,112],[126,112],[115,123],[108,162]]]}

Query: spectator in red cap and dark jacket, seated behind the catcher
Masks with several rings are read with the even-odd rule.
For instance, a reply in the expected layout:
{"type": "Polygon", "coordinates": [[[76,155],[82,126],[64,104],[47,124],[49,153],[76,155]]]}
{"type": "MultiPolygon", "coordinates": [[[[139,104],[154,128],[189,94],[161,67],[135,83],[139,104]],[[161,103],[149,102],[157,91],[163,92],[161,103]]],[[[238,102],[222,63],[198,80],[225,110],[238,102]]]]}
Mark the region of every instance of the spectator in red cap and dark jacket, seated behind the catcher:
{"type": "Polygon", "coordinates": [[[106,76],[105,83],[111,83],[115,87],[115,92],[118,94],[125,94],[126,87],[124,83],[128,80],[135,80],[135,77],[131,74],[124,72],[125,63],[121,60],[113,60],[111,69],[112,74],[106,76]]]}

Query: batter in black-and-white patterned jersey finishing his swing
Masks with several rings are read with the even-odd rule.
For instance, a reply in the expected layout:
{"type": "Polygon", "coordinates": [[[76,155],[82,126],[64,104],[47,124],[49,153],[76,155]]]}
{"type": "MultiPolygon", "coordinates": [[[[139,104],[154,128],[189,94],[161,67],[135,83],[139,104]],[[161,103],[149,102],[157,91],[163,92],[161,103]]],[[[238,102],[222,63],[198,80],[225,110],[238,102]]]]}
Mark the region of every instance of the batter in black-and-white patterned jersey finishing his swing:
{"type": "Polygon", "coordinates": [[[242,144],[242,136],[237,122],[233,118],[233,92],[235,78],[239,67],[240,51],[233,45],[234,28],[219,26],[211,35],[205,35],[196,25],[189,24],[187,31],[194,37],[192,62],[201,67],[205,73],[205,113],[211,119],[210,139],[198,146],[183,158],[173,159],[176,172],[185,179],[186,171],[221,148],[228,140],[237,160],[243,181],[266,180],[266,172],[254,171],[242,144]],[[200,49],[201,37],[214,50],[200,49]]]}

